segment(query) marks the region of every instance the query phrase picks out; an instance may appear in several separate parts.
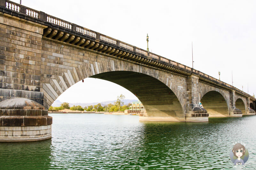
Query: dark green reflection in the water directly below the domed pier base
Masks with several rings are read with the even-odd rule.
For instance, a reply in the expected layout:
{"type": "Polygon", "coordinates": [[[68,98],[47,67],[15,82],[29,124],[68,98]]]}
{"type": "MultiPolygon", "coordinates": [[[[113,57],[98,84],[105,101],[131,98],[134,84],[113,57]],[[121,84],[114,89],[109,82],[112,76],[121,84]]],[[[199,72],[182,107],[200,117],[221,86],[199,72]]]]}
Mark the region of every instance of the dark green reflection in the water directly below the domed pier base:
{"type": "Polygon", "coordinates": [[[51,142],[0,143],[0,169],[49,169],[51,142]]]}

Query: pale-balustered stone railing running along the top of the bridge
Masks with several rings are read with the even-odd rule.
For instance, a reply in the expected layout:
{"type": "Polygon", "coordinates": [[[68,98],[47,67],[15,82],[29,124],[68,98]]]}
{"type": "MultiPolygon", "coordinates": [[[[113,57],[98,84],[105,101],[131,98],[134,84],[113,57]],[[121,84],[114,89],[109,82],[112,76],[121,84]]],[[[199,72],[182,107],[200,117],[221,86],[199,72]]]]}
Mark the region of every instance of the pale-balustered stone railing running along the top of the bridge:
{"type": "MultiPolygon", "coordinates": [[[[23,5],[20,5],[20,4],[17,4],[17,3],[14,3],[12,1],[9,1],[9,0],[5,0],[5,3],[4,1],[1,1],[1,6],[4,6],[4,8],[6,9],[9,9],[9,10],[12,10],[12,11],[15,11],[15,12],[19,12],[19,13],[23,13],[23,14],[26,14],[30,17],[33,17],[33,18],[44,18],[44,17],[41,17],[41,12],[39,11],[36,11],[36,10],[33,10],[31,8],[28,8],[26,6],[23,6],[23,5]],[[3,3],[2,3],[3,2],[3,3]]],[[[215,81],[215,82],[218,82],[219,84],[221,85],[225,85],[225,86],[228,86],[229,88],[232,88],[232,89],[235,89],[236,91],[244,94],[244,95],[249,95],[249,94],[246,94],[245,92],[237,89],[236,87],[233,87],[225,82],[222,82],[220,81],[219,79],[216,79],[216,78],[213,78],[209,75],[206,75],[198,70],[195,70],[195,69],[192,69],[191,67],[188,67],[188,66],[185,66],[183,64],[180,64],[180,63],[177,63],[175,61],[172,61],[172,60],[169,60],[167,58],[164,58],[160,55],[156,55],[154,53],[148,53],[148,51],[146,50],[143,50],[141,48],[137,48],[137,47],[134,47],[130,44],[127,44],[125,42],[122,42],[122,41],[118,41],[114,38],[111,38],[111,37],[108,37],[106,35],[103,35],[103,34],[100,34],[100,33],[96,33],[92,30],[89,30],[87,28],[84,28],[84,27],[81,27],[81,26],[77,26],[75,24],[72,24],[68,21],[65,21],[65,20],[62,20],[60,18],[56,18],[56,17],[53,17],[51,15],[48,15],[48,14],[43,14],[45,15],[45,18],[46,18],[46,21],[53,24],[53,25],[57,25],[57,26],[60,26],[60,27],[63,27],[65,29],[70,29],[70,30],[73,30],[73,31],[76,31],[78,33],[81,33],[81,34],[84,34],[84,35],[87,35],[87,36],[91,36],[93,38],[97,38],[97,39],[100,39],[101,41],[105,41],[105,42],[108,42],[110,44],[115,44],[116,46],[119,46],[119,47],[123,47],[123,48],[126,48],[127,50],[130,50],[132,52],[137,52],[137,53],[140,53],[140,54],[143,54],[145,56],[148,56],[148,57],[151,57],[151,58],[154,58],[156,60],[160,60],[162,62],[165,62],[165,63],[169,63],[170,65],[172,66],[175,66],[175,67],[178,67],[180,69],[183,69],[183,70],[187,70],[189,72],[193,72],[193,73],[196,73],[198,74],[199,76],[203,77],[203,78],[207,78],[211,81],[215,81]],[[117,43],[118,42],[118,43],[117,43]]],[[[249,95],[251,98],[253,98],[251,95],[249,95]]]]}

